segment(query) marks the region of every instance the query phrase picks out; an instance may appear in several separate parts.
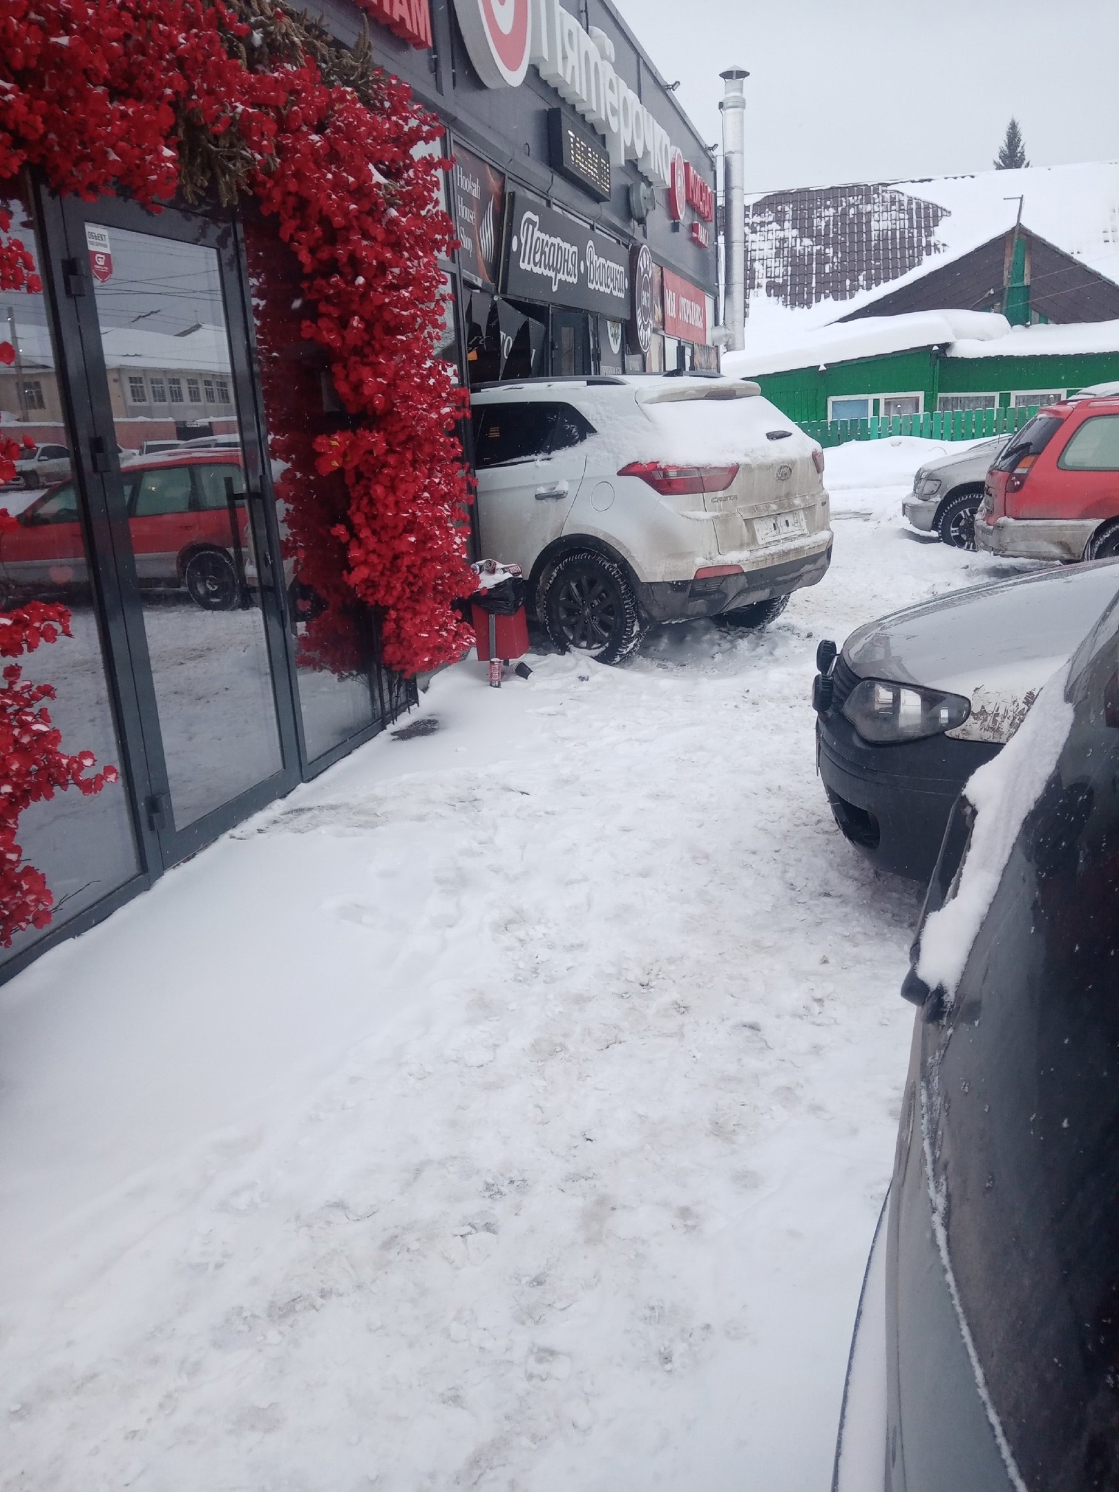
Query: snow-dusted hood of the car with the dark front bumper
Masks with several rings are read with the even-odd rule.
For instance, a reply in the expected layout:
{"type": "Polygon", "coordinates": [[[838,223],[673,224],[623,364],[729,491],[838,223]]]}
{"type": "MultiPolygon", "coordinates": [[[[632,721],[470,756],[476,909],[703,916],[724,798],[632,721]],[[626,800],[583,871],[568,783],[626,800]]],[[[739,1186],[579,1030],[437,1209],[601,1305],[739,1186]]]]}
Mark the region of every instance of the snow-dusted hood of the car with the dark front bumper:
{"type": "Polygon", "coordinates": [[[861,679],[964,695],[971,715],[947,734],[1006,742],[1116,591],[1115,560],[953,591],[859,627],[843,658],[861,679]]]}

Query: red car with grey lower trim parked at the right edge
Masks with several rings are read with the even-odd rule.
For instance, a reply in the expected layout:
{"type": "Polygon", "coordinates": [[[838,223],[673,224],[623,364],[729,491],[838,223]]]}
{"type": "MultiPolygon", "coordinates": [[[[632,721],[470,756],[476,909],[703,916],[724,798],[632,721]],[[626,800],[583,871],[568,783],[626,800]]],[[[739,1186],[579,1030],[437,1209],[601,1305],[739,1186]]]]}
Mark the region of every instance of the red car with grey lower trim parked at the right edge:
{"type": "Polygon", "coordinates": [[[1024,560],[1119,555],[1119,397],[1050,404],[986,474],[976,548],[1024,560]]]}

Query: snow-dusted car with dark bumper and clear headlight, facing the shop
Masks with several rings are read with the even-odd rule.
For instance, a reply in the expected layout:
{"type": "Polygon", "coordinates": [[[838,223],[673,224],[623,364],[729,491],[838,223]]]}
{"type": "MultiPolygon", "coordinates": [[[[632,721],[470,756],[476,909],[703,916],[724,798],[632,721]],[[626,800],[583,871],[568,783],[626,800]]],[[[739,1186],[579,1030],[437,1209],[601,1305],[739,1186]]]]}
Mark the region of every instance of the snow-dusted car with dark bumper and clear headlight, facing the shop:
{"type": "Polygon", "coordinates": [[[816,761],[841,833],[925,880],[952,806],[1119,592],[1119,565],[1046,570],[937,597],[822,642],[816,761]]]}

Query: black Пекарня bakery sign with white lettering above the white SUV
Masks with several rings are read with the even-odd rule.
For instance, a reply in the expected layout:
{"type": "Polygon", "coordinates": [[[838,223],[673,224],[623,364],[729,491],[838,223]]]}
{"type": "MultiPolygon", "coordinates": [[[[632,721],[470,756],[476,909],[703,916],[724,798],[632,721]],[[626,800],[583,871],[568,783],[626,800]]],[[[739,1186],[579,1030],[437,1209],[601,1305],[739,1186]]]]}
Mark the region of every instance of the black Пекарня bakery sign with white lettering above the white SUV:
{"type": "Polygon", "coordinates": [[[531,197],[510,194],[501,294],[630,319],[630,255],[531,197]]]}

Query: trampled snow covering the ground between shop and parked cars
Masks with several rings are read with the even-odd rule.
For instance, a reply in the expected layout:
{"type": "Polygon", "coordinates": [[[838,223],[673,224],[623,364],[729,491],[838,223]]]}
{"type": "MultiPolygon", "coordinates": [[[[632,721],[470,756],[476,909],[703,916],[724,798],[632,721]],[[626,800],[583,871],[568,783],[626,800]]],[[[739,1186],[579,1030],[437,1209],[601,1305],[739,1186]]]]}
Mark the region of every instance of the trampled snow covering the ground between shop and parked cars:
{"type": "Polygon", "coordinates": [[[824,1492],[918,892],[809,688],[1013,570],[906,531],[932,449],[828,452],[767,633],[448,670],[0,992],[4,1492],[824,1492]]]}

